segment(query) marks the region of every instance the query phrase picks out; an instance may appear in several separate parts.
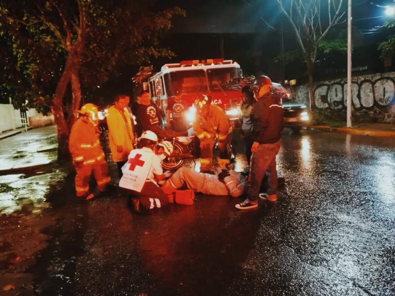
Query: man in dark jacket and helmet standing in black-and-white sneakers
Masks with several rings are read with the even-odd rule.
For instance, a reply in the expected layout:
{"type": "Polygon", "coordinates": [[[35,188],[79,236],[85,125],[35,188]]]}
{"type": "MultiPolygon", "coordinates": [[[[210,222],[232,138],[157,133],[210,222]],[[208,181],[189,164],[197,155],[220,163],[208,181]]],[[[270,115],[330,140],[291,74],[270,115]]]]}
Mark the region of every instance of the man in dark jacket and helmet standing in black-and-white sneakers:
{"type": "Polygon", "coordinates": [[[260,76],[252,82],[257,102],[253,111],[251,185],[247,198],[236,205],[240,210],[257,208],[258,196],[277,201],[276,155],[280,149],[284,110],[281,98],[272,92],[272,88],[272,81],[267,76],[260,76]],[[266,171],[269,171],[268,192],[259,194],[266,171]]]}

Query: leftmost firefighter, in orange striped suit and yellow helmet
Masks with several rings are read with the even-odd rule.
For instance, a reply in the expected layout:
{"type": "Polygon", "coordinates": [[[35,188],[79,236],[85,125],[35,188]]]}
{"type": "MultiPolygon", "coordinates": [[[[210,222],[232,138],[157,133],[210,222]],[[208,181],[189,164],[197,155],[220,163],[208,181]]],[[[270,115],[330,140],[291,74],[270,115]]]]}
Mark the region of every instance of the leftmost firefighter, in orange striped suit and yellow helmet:
{"type": "Polygon", "coordinates": [[[106,190],[110,176],[99,140],[97,106],[85,104],[78,112],[80,116],[70,132],[69,150],[77,171],[75,180],[77,196],[87,197],[92,171],[99,191],[106,190]]]}

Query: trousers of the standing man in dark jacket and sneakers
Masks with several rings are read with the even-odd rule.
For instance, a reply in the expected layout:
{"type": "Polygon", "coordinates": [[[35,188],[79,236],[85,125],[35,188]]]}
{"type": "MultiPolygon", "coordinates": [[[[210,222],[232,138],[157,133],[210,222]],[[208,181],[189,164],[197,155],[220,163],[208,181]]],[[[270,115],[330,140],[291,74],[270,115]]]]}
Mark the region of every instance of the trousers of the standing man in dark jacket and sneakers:
{"type": "Polygon", "coordinates": [[[277,193],[276,155],[280,149],[280,142],[274,144],[260,144],[258,150],[252,155],[251,185],[248,190],[248,199],[258,199],[259,189],[266,171],[269,173],[268,194],[277,193]]]}

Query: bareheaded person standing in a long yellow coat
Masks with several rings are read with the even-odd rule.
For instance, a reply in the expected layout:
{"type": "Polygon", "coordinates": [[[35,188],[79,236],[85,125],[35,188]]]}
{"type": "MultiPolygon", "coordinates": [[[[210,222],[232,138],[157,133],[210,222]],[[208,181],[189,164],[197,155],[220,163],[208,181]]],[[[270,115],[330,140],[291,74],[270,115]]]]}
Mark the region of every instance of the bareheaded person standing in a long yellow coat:
{"type": "Polygon", "coordinates": [[[110,140],[113,161],[118,166],[118,176],[122,177],[122,166],[133,149],[134,129],[127,106],[129,96],[119,94],[114,99],[114,106],[110,107],[107,115],[108,137],[110,140]]]}

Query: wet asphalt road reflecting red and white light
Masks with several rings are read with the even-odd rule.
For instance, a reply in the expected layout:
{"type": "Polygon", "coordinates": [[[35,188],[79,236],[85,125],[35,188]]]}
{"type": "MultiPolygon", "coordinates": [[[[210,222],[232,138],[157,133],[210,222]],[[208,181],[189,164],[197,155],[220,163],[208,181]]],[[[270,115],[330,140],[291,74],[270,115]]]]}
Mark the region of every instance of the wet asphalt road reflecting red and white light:
{"type": "Polygon", "coordinates": [[[277,165],[278,202],[242,212],[237,198],[199,195],[139,216],[117,192],[79,202],[67,177],[43,212],[56,217],[41,231],[47,246],[25,270],[33,291],[395,295],[395,140],[286,130],[277,165]]]}

